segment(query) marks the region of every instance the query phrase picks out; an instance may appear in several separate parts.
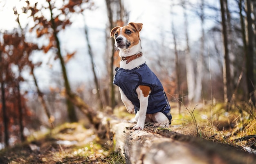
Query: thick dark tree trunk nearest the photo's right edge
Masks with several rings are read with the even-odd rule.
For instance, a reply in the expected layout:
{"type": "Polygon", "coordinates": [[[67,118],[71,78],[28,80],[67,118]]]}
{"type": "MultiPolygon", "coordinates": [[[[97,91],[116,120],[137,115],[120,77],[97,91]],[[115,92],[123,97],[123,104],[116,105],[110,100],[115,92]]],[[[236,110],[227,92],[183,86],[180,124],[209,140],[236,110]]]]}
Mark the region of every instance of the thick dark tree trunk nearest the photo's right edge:
{"type": "Polygon", "coordinates": [[[252,17],[251,17],[251,0],[247,0],[247,30],[248,30],[248,45],[246,54],[246,77],[247,77],[247,88],[249,92],[249,98],[252,103],[256,104],[256,95],[254,88],[254,31],[252,28],[252,17]]]}

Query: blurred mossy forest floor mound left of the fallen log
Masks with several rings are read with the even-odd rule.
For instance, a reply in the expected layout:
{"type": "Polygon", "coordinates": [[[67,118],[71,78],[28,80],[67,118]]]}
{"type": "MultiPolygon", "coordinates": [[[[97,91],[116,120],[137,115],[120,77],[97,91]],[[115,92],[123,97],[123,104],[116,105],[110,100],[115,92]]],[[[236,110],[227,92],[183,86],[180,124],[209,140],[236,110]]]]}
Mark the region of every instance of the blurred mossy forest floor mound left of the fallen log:
{"type": "Polygon", "coordinates": [[[124,163],[121,155],[82,123],[65,123],[45,134],[39,131],[28,140],[0,151],[0,164],[124,163]]]}

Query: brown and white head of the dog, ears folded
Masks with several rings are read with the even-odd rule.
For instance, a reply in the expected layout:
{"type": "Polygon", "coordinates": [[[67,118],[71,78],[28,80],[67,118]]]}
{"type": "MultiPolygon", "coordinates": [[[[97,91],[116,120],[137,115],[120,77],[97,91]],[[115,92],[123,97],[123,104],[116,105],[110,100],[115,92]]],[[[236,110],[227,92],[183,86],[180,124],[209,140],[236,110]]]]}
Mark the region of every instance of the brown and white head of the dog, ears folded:
{"type": "Polygon", "coordinates": [[[127,26],[114,27],[110,32],[110,37],[114,37],[115,46],[119,49],[128,49],[139,44],[139,31],[142,23],[129,23],[127,26]]]}

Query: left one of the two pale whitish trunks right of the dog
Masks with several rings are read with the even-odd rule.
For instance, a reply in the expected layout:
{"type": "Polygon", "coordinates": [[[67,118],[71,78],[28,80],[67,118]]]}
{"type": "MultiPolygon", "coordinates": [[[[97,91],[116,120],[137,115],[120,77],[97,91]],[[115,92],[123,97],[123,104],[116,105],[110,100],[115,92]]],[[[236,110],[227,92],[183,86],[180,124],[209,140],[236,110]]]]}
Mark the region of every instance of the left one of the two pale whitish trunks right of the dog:
{"type": "Polygon", "coordinates": [[[188,98],[189,102],[193,101],[193,98],[195,96],[194,89],[195,89],[195,72],[193,67],[193,61],[190,54],[190,47],[189,47],[189,23],[188,23],[188,16],[186,13],[186,7],[185,4],[183,4],[183,12],[184,12],[184,27],[185,27],[185,35],[186,35],[186,81],[188,86],[188,98]]]}

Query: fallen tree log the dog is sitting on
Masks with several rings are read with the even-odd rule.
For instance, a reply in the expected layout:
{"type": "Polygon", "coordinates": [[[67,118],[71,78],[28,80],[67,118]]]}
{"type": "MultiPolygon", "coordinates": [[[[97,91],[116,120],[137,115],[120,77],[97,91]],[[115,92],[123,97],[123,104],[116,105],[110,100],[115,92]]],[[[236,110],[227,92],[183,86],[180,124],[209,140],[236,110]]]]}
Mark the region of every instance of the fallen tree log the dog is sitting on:
{"type": "Polygon", "coordinates": [[[168,129],[132,131],[133,124],[120,120],[110,120],[109,125],[115,150],[124,155],[127,164],[256,163],[253,154],[168,129]]]}

